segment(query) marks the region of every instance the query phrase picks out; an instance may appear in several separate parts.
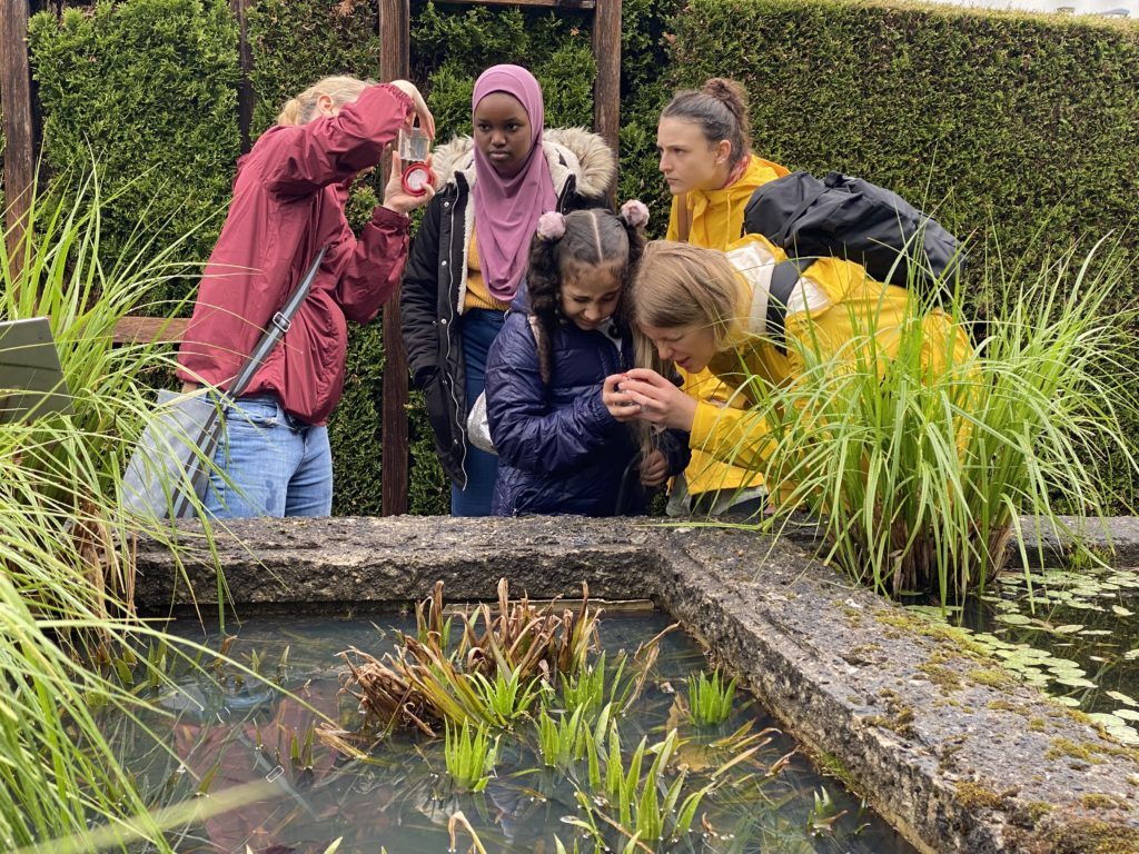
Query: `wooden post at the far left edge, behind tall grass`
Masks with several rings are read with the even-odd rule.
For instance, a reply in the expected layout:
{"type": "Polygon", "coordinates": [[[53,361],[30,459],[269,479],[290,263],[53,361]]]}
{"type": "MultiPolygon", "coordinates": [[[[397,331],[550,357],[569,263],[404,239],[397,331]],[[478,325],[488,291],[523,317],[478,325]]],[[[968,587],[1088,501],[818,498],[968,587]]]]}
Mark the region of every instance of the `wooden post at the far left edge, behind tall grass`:
{"type": "Polygon", "coordinates": [[[32,87],[27,67],[28,0],[0,0],[0,107],[3,109],[3,189],[10,279],[23,264],[25,219],[31,203],[32,87]]]}

